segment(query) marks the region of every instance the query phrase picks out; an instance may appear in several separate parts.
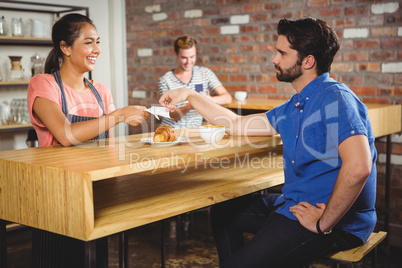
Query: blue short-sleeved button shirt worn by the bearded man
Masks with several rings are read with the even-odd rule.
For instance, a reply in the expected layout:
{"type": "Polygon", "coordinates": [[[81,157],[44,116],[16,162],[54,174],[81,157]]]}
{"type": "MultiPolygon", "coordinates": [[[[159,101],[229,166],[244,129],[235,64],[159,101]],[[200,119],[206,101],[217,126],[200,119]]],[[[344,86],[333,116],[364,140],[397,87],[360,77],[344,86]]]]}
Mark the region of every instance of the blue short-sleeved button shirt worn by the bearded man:
{"type": "Polygon", "coordinates": [[[342,165],[339,144],[354,135],[367,136],[373,159],[371,174],[356,202],[335,226],[365,242],[377,221],[377,151],[367,107],[348,87],[324,73],[266,114],[283,141],[285,184],[276,201],[283,203],[277,212],[294,220],[291,206],[302,201],[328,203],[342,165]]]}

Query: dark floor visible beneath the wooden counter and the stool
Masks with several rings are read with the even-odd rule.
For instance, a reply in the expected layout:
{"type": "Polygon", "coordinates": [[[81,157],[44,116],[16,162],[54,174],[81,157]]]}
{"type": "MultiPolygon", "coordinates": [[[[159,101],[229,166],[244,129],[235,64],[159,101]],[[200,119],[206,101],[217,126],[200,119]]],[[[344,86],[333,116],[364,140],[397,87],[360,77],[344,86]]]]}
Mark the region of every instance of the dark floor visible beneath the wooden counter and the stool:
{"type": "MultiPolygon", "coordinates": [[[[193,214],[193,225],[186,228],[181,216],[180,232],[177,218],[165,221],[167,268],[217,268],[218,257],[212,234],[208,229],[206,210],[193,214]],[[186,229],[186,230],[185,230],[186,229]],[[177,235],[180,237],[178,238],[177,235]]],[[[157,268],[161,266],[161,223],[149,224],[129,231],[129,267],[157,268]]],[[[109,238],[109,267],[119,266],[118,235],[109,238]]],[[[384,243],[383,243],[384,244],[384,243]]],[[[378,251],[378,268],[401,268],[402,249],[381,245],[378,251]]],[[[29,228],[15,230],[8,235],[8,268],[28,268],[31,258],[31,231],[29,228]]],[[[371,258],[365,258],[355,267],[371,267],[371,258]]],[[[310,268],[327,268],[331,263],[316,262],[310,268]]],[[[347,267],[341,265],[342,267],[347,267]]]]}

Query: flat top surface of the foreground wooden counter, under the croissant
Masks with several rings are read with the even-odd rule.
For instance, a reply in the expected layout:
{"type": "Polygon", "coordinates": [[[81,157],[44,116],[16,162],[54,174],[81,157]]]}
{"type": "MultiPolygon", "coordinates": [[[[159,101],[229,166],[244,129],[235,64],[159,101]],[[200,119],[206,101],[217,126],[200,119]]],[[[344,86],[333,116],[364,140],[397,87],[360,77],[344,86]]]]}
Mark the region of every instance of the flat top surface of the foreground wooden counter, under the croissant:
{"type": "Polygon", "coordinates": [[[199,136],[197,128],[176,133],[189,142],[154,147],[141,142],[142,138],[153,136],[153,133],[144,133],[71,147],[46,146],[0,152],[0,159],[85,173],[88,179],[96,181],[176,165],[180,168],[182,162],[193,163],[201,158],[261,152],[281,142],[280,137],[245,138],[226,134],[218,144],[208,145],[199,136]],[[164,159],[163,162],[158,161],[160,158],[164,159]]]}

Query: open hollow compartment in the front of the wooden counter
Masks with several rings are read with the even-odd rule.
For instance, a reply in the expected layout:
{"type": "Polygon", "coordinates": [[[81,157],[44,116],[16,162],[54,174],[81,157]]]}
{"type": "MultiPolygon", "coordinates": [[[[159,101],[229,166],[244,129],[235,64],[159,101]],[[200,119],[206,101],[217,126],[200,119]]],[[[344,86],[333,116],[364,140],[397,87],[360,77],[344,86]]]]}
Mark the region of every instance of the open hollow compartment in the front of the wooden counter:
{"type": "MultiPolygon", "coordinates": [[[[117,233],[283,184],[281,165],[267,169],[236,164],[247,157],[230,159],[225,168],[200,165],[152,177],[139,173],[95,182],[94,230],[89,238],[97,239],[107,232],[117,233]]],[[[252,157],[261,160],[261,164],[267,152],[252,157]]],[[[282,155],[274,156],[272,161],[282,163],[282,155]]]]}

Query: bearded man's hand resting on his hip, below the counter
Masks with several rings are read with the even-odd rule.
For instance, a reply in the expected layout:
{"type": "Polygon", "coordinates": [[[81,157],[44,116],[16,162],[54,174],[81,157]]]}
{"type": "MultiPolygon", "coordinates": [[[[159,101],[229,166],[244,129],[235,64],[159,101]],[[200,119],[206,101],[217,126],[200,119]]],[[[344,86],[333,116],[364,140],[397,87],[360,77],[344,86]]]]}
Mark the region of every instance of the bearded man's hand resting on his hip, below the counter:
{"type": "Polygon", "coordinates": [[[300,202],[290,207],[289,211],[293,213],[293,216],[299,220],[304,228],[317,234],[316,224],[324,213],[325,207],[324,203],[316,203],[316,206],[313,206],[308,202],[300,202]]]}

